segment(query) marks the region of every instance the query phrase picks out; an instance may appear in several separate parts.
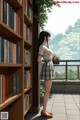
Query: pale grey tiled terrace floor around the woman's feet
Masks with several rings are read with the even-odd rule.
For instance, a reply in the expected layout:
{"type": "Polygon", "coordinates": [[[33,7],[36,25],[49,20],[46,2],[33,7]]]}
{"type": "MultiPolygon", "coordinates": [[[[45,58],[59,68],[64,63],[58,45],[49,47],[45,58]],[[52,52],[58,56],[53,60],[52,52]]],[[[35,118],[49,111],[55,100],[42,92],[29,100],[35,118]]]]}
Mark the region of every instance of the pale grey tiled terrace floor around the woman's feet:
{"type": "Polygon", "coordinates": [[[47,110],[53,113],[53,118],[41,117],[39,112],[29,113],[26,120],[80,120],[80,95],[51,94],[47,110]]]}

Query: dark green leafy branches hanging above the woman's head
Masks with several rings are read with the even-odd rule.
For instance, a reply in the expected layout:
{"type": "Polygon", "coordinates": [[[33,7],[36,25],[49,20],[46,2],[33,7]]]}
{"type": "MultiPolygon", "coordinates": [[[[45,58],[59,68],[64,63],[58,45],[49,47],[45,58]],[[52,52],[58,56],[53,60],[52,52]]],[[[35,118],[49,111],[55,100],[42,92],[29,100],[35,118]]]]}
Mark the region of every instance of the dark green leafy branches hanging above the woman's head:
{"type": "Polygon", "coordinates": [[[48,20],[47,12],[51,12],[53,5],[58,7],[60,7],[60,5],[58,3],[52,4],[52,0],[35,0],[35,3],[38,6],[39,14],[38,16],[34,15],[34,17],[39,21],[40,27],[43,29],[48,20]]]}

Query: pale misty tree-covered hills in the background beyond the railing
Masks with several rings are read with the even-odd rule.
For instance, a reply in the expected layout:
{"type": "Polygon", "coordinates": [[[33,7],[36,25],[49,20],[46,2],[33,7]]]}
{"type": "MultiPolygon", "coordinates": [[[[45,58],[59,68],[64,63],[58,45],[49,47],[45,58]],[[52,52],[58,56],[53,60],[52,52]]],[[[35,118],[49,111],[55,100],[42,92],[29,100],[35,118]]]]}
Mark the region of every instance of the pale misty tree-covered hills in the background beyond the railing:
{"type": "Polygon", "coordinates": [[[57,34],[49,44],[51,49],[64,60],[80,59],[80,19],[77,19],[74,26],[69,26],[65,34],[57,34]]]}

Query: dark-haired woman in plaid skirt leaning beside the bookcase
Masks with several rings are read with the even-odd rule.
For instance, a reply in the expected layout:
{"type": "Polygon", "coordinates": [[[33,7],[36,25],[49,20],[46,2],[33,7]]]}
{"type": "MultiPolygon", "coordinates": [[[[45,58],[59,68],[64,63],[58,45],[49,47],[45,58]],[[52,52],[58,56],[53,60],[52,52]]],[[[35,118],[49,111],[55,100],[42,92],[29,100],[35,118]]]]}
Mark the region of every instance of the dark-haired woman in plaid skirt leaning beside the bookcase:
{"type": "Polygon", "coordinates": [[[47,112],[47,100],[51,90],[52,79],[54,78],[54,65],[52,62],[53,52],[49,49],[48,41],[50,40],[50,33],[47,31],[42,31],[39,35],[39,46],[38,46],[38,63],[42,64],[42,69],[40,72],[40,79],[45,82],[45,94],[43,99],[43,110],[41,111],[41,116],[52,118],[53,114],[47,112]]]}

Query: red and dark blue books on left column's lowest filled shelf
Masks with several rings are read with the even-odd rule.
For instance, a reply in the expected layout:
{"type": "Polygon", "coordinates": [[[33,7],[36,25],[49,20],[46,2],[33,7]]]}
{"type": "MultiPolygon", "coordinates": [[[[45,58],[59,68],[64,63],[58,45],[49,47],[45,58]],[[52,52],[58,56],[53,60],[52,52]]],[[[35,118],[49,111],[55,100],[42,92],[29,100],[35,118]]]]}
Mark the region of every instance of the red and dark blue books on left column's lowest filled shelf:
{"type": "MultiPolygon", "coordinates": [[[[13,75],[12,76],[12,94],[17,94],[20,92],[19,88],[19,76],[13,75]]],[[[9,88],[8,88],[9,89],[9,88]]],[[[6,76],[0,74],[0,104],[5,102],[6,100],[6,76]]]]}

